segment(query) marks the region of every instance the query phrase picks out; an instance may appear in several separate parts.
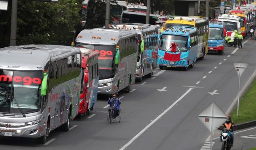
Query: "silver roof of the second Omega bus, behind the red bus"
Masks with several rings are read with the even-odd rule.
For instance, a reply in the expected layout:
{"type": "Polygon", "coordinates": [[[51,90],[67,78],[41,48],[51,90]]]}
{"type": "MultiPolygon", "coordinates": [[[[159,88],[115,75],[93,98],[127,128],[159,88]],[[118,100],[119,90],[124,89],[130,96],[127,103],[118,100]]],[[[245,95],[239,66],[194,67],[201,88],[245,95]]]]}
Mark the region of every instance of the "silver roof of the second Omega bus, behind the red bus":
{"type": "Polygon", "coordinates": [[[137,32],[132,29],[94,28],[82,30],[76,37],[76,42],[91,45],[115,45],[119,40],[130,36],[137,36],[137,32]]]}

